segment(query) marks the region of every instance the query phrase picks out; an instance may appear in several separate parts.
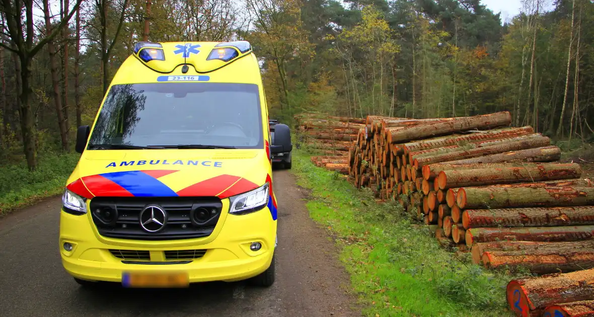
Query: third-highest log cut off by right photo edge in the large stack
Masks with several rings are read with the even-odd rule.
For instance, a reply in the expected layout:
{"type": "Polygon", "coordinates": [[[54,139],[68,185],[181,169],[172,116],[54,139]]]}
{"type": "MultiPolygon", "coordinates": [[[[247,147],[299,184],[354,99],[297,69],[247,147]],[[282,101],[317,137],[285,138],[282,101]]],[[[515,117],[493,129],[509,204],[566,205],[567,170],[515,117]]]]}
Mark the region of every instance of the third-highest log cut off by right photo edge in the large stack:
{"type": "Polygon", "coordinates": [[[470,228],[466,230],[466,245],[475,242],[520,240],[561,242],[589,240],[594,237],[594,226],[530,227],[530,228],[470,228]]]}

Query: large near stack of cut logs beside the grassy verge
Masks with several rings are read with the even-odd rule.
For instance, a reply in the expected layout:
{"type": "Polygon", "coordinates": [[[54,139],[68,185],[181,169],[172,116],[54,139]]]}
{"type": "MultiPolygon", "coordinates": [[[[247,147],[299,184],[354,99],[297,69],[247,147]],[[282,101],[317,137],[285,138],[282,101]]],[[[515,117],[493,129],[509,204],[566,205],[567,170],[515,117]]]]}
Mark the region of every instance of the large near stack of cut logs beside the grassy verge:
{"type": "Polygon", "coordinates": [[[443,246],[489,268],[536,274],[594,267],[594,184],[560,148],[508,112],[457,118],[368,116],[349,181],[395,199],[443,246]]]}

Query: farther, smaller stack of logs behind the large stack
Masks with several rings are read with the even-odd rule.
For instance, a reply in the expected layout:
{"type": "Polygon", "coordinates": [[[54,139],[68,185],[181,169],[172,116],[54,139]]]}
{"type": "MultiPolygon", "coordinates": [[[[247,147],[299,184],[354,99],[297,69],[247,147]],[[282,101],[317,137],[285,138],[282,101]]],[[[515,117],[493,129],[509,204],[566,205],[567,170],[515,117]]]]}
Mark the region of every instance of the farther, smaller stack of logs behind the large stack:
{"type": "Polygon", "coordinates": [[[366,119],[304,114],[295,116],[299,122],[301,144],[324,156],[314,156],[312,163],[343,175],[349,173],[347,152],[365,127],[366,119]]]}

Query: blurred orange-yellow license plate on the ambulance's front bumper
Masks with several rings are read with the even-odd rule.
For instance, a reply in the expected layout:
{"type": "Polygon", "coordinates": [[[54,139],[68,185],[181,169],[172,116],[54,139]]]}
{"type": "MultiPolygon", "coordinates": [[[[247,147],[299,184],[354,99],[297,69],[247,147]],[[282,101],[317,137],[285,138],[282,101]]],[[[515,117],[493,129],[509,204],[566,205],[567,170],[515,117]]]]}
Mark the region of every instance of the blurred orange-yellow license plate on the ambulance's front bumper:
{"type": "Polygon", "coordinates": [[[124,287],[188,287],[187,273],[125,273],[122,275],[124,287]]]}

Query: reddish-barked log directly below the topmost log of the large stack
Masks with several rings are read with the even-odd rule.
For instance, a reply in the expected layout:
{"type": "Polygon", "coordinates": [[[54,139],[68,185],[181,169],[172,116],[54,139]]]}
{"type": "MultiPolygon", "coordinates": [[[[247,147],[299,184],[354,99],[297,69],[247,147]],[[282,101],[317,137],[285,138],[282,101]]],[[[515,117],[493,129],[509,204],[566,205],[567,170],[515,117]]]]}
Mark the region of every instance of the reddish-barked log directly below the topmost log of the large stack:
{"type": "Polygon", "coordinates": [[[409,142],[403,144],[405,154],[421,150],[430,150],[448,145],[458,145],[466,141],[497,140],[503,138],[520,137],[522,135],[533,134],[534,129],[531,126],[522,128],[495,129],[492,131],[473,132],[467,135],[456,135],[453,137],[434,138],[432,140],[423,140],[418,142],[409,142]]]}

